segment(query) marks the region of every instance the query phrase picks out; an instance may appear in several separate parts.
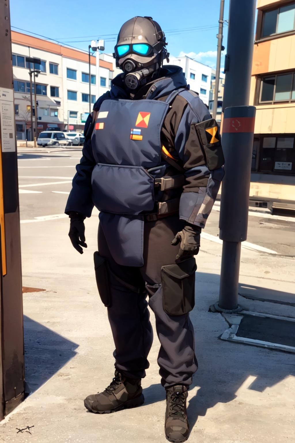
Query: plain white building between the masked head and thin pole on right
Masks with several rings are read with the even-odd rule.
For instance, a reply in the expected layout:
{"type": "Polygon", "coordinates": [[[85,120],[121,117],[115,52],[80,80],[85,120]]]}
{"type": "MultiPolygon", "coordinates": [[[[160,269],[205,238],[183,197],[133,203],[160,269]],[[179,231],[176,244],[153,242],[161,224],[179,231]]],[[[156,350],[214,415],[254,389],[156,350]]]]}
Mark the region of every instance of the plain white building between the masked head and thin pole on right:
{"type": "MultiPolygon", "coordinates": [[[[168,63],[165,61],[164,64],[168,63]]],[[[208,106],[211,89],[211,67],[197,62],[187,55],[184,57],[170,56],[169,65],[177,65],[182,67],[184,77],[187,79],[190,89],[198,93],[199,97],[208,106]]]]}

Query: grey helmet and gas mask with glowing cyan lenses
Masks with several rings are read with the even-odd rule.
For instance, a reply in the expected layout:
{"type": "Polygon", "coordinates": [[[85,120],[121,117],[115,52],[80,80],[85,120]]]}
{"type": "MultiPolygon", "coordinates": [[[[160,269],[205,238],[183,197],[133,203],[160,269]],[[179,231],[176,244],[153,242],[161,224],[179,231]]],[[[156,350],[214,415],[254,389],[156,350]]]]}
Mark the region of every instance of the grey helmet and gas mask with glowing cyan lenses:
{"type": "Polygon", "coordinates": [[[152,17],[134,17],[123,24],[113,56],[128,88],[144,85],[161,68],[169,57],[166,45],[165,34],[152,17]]]}

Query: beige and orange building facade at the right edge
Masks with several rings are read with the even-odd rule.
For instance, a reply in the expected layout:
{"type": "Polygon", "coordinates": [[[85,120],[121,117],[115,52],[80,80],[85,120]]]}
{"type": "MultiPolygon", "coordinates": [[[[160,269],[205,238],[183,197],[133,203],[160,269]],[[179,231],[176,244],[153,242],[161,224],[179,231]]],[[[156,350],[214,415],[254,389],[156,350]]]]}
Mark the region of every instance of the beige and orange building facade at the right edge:
{"type": "Polygon", "coordinates": [[[295,1],[258,0],[250,104],[256,106],[252,194],[294,201],[295,1]]]}

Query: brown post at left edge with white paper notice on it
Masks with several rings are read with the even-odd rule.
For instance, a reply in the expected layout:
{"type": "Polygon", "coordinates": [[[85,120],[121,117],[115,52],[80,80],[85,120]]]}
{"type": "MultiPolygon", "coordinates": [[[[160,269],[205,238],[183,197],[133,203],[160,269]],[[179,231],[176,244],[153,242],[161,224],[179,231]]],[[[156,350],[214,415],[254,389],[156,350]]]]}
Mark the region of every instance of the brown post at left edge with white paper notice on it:
{"type": "Polygon", "coordinates": [[[0,420],[24,399],[23,295],[9,0],[0,2],[0,420]]]}

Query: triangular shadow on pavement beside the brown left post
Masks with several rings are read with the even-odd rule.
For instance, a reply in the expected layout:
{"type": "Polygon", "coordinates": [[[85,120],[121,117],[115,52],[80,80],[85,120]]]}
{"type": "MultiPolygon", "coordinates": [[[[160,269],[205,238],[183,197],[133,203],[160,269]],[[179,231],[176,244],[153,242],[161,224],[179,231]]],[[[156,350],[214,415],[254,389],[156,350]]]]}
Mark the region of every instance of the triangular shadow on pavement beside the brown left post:
{"type": "Polygon", "coordinates": [[[26,392],[31,393],[50,379],[77,353],[79,345],[53,330],[23,317],[26,392]]]}

